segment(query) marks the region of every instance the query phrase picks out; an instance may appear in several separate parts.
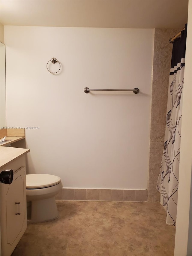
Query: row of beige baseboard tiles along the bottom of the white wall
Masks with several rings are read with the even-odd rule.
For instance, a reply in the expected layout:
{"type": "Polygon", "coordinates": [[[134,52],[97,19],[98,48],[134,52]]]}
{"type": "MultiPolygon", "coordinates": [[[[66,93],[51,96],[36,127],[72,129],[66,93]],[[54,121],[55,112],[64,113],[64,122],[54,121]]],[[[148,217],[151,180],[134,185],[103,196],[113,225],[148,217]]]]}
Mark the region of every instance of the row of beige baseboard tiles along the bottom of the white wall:
{"type": "Polygon", "coordinates": [[[146,202],[147,190],[63,188],[56,200],[146,202]]]}

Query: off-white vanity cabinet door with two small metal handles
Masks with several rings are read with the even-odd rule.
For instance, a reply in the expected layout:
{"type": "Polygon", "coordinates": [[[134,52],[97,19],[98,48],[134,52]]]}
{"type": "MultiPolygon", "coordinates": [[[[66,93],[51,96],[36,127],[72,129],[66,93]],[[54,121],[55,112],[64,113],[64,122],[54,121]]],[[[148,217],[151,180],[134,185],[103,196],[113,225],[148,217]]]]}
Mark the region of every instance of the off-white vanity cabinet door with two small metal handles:
{"type": "Polygon", "coordinates": [[[21,167],[13,174],[11,184],[1,184],[1,245],[3,256],[11,255],[26,227],[26,174],[25,167],[21,167]]]}

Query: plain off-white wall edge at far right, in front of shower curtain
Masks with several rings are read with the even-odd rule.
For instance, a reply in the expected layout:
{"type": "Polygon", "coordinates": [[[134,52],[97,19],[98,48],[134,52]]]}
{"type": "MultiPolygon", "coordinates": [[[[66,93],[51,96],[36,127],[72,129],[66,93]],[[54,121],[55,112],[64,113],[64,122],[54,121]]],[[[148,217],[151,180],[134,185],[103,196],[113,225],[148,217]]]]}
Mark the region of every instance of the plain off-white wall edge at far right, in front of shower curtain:
{"type": "Polygon", "coordinates": [[[175,256],[192,255],[192,0],[189,0],[175,256]]]}

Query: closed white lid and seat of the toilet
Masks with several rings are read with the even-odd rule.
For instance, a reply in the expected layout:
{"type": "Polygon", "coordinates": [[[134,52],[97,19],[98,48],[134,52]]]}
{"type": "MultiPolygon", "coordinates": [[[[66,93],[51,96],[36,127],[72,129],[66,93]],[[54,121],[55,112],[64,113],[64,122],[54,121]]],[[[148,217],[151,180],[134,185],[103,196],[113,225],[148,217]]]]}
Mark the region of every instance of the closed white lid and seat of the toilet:
{"type": "Polygon", "coordinates": [[[51,174],[27,174],[26,188],[47,188],[57,185],[61,178],[51,174]]]}

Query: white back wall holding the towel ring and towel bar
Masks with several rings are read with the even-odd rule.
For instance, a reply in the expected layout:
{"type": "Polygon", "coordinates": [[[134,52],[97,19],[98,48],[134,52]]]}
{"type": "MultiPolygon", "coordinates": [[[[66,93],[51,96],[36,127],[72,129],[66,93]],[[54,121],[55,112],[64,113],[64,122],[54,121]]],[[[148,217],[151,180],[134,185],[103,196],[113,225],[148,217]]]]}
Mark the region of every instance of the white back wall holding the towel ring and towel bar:
{"type": "Polygon", "coordinates": [[[58,175],[64,187],[146,189],[154,30],[4,26],[4,38],[7,126],[40,127],[26,130],[28,173],[58,175]],[[52,57],[57,75],[46,70],[52,57]]]}

